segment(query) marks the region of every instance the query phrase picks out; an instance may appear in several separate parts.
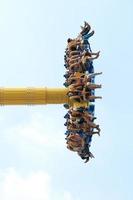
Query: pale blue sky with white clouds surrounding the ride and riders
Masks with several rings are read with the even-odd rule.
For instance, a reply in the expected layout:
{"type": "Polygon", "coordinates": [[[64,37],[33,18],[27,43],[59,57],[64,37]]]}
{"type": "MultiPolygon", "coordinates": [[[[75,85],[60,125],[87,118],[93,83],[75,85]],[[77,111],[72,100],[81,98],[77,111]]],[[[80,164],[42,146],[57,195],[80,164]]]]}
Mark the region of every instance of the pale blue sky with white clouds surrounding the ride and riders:
{"type": "Polygon", "coordinates": [[[95,71],[101,137],[84,164],[65,147],[62,105],[0,108],[1,200],[131,200],[133,180],[133,68],[131,0],[1,0],[0,86],[60,87],[68,37],[83,21],[101,51],[95,71]]]}

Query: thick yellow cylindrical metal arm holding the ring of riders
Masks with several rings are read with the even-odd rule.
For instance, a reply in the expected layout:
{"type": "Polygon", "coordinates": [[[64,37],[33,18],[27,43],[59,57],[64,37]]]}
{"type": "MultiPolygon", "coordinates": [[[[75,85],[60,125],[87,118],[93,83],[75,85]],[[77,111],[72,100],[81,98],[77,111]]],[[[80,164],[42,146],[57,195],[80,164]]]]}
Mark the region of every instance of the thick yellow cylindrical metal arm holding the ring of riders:
{"type": "Polygon", "coordinates": [[[66,88],[0,88],[0,105],[69,103],[66,88]]]}

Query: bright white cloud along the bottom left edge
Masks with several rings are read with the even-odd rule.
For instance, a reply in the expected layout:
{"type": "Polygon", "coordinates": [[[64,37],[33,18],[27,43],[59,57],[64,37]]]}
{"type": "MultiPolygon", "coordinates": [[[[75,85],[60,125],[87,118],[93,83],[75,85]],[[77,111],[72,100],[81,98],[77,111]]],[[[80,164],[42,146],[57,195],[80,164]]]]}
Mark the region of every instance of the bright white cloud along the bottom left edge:
{"type": "Polygon", "coordinates": [[[20,175],[10,168],[0,172],[0,200],[73,200],[68,191],[54,191],[51,177],[43,171],[20,175]],[[54,197],[53,194],[56,194],[54,197]],[[62,195],[61,195],[62,194],[62,195]]]}

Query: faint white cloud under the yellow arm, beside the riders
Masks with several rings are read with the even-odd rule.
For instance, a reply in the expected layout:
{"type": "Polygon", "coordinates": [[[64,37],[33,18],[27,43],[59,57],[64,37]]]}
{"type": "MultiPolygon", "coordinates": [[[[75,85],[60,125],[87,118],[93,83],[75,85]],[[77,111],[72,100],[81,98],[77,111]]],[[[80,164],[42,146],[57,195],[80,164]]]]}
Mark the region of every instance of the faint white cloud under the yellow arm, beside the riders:
{"type": "Polygon", "coordinates": [[[19,140],[31,145],[63,146],[63,134],[60,133],[56,124],[51,124],[49,118],[46,119],[40,114],[34,114],[27,123],[9,128],[7,138],[15,143],[19,140]]]}

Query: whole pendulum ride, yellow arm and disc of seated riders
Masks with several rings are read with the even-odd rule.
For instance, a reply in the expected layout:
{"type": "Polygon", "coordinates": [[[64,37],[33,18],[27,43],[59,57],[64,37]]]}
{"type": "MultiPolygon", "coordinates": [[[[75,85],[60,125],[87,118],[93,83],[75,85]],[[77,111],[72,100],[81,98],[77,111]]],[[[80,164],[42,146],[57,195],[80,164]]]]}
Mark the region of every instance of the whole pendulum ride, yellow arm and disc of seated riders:
{"type": "Polygon", "coordinates": [[[95,96],[95,89],[101,88],[95,84],[95,76],[102,73],[94,73],[93,60],[99,57],[99,52],[93,53],[88,41],[94,31],[87,22],[81,29],[77,38],[67,40],[65,88],[1,88],[0,104],[64,104],[68,110],[64,116],[67,148],[88,162],[94,157],[89,150],[92,136],[100,135],[99,125],[94,123],[94,102],[101,98],[95,96]]]}

